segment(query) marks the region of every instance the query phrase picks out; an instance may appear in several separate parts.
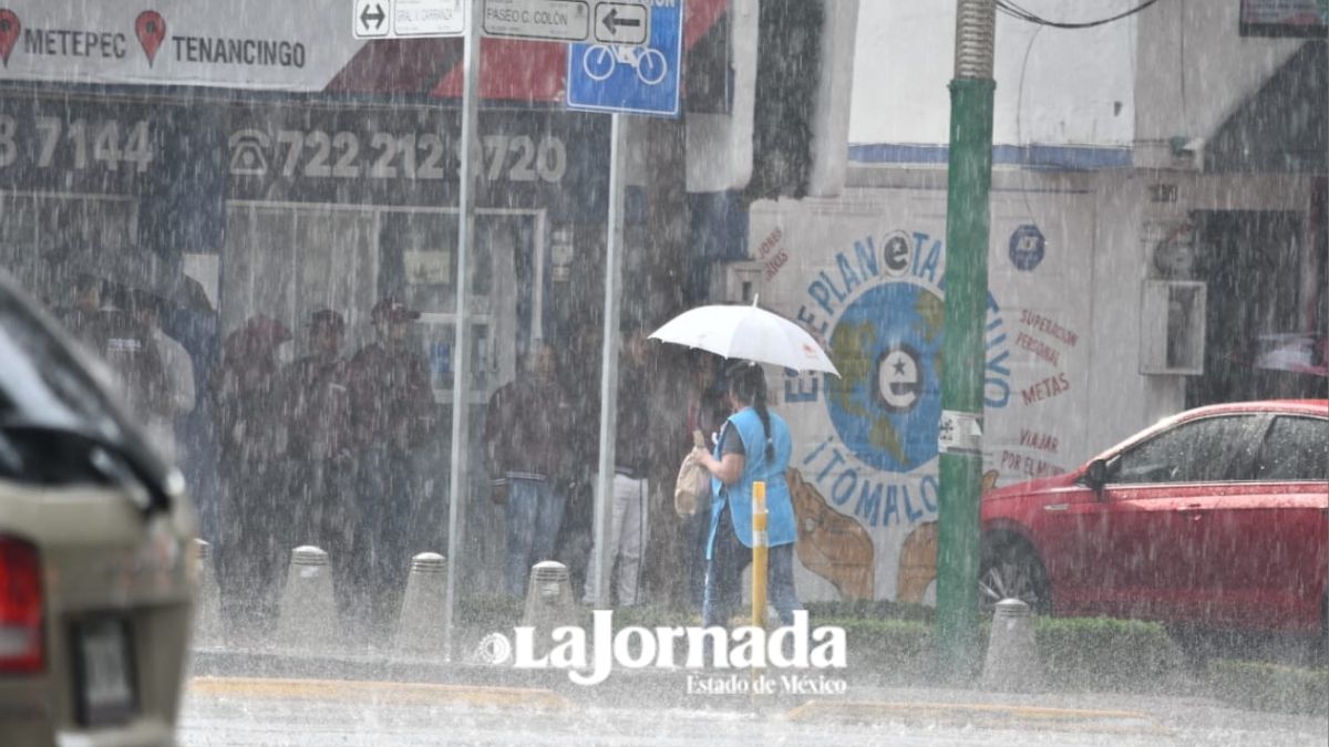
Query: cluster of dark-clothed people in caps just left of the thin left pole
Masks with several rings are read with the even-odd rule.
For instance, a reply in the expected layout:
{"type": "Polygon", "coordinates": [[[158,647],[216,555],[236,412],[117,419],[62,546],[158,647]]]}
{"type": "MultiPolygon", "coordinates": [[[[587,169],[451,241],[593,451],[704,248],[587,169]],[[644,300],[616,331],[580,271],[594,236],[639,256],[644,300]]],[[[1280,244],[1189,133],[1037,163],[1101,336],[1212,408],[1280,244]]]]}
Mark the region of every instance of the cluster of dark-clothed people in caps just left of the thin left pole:
{"type": "MultiPolygon", "coordinates": [[[[379,302],[373,342],[343,358],[344,318],[316,311],[311,352],[286,366],[278,347],[291,334],[278,322],[255,316],[226,338],[209,397],[222,482],[219,573],[241,586],[230,594],[238,625],[275,619],[292,537],[327,550],[350,623],[391,618],[419,508],[409,455],[436,431],[428,364],[408,344],[419,316],[397,299],[379,302]]],[[[223,587],[223,607],[226,598],[223,587]]]]}

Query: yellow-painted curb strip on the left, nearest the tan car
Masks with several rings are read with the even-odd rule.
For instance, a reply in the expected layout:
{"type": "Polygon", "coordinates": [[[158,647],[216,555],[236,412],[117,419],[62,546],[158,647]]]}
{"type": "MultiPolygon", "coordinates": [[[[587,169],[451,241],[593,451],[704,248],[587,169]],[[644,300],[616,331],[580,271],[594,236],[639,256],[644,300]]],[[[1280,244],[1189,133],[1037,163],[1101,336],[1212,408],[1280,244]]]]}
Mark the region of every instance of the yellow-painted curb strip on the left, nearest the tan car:
{"type": "Polygon", "coordinates": [[[468,687],[409,682],[355,682],[344,679],[266,679],[195,677],[194,696],[243,696],[290,700],[332,700],[393,706],[478,706],[524,711],[570,711],[570,700],[550,690],[521,687],[468,687]]]}

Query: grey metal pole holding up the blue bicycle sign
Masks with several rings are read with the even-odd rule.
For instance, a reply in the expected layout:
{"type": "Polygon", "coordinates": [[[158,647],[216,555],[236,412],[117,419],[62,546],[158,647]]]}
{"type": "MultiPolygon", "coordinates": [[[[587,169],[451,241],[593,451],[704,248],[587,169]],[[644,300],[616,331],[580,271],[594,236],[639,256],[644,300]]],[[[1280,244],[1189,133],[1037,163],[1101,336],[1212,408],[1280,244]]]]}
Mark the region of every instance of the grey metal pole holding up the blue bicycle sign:
{"type": "Polygon", "coordinates": [[[609,226],[605,246],[605,343],[599,384],[599,473],[595,489],[595,557],[593,584],[597,607],[609,606],[605,558],[606,524],[614,497],[614,437],[618,431],[618,316],[623,284],[623,178],[627,161],[623,116],[611,114],[609,146],[609,226]]]}

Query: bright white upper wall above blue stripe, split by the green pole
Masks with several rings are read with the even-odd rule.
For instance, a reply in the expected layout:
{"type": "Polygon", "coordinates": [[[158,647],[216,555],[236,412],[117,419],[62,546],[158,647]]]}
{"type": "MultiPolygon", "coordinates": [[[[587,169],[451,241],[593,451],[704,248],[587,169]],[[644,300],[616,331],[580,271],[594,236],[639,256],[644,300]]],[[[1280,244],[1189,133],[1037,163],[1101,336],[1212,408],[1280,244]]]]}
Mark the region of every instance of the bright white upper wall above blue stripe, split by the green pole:
{"type": "MultiPolygon", "coordinates": [[[[1022,3],[1054,20],[1107,17],[1135,4],[1022,3]]],[[[1235,1],[1228,4],[1235,7],[1235,1]]],[[[1128,145],[1135,117],[1135,27],[1130,17],[1094,29],[1062,31],[998,13],[993,141],[1128,145]]],[[[849,142],[948,142],[946,84],[954,73],[954,0],[860,4],[849,142]]]]}

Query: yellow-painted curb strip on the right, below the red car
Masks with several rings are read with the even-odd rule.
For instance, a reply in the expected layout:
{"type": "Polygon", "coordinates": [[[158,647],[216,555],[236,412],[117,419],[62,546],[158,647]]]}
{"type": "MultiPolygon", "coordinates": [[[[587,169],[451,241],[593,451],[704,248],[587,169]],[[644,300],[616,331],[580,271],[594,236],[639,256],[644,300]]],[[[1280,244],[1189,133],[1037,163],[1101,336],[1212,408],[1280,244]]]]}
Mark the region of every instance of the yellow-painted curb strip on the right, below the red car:
{"type": "Polygon", "coordinates": [[[1171,734],[1140,711],[1095,711],[978,703],[886,703],[865,700],[809,700],[785,714],[799,723],[823,722],[941,722],[982,728],[1045,728],[1111,734],[1171,734]]]}

